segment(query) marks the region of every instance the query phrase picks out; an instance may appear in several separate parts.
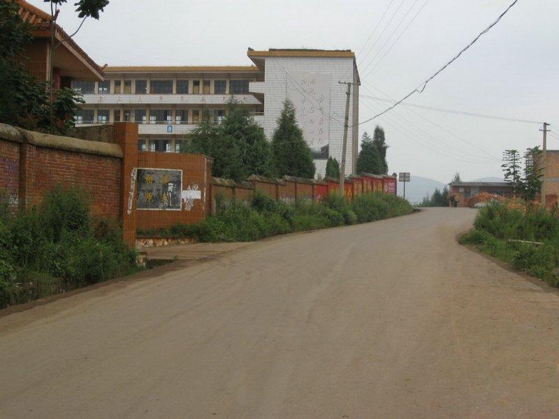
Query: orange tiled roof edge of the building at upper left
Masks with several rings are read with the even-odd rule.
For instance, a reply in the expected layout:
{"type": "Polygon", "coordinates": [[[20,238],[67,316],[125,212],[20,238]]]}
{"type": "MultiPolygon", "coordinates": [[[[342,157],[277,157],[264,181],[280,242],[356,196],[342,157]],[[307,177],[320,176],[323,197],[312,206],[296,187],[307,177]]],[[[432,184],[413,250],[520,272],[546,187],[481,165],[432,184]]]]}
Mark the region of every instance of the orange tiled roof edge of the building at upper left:
{"type": "MultiPolygon", "coordinates": [[[[33,27],[33,36],[36,38],[50,38],[50,22],[52,20],[49,13],[44,10],[27,3],[25,0],[16,0],[17,4],[20,6],[20,16],[24,22],[28,22],[33,27]]],[[[58,24],[55,24],[56,33],[55,36],[66,47],[66,50],[70,52],[78,59],[85,61],[87,66],[89,66],[89,71],[92,73],[92,77],[96,80],[103,80],[103,68],[96,64],[95,61],[89,55],[85,53],[80,46],[73,41],[73,39],[66,34],[64,29],[62,29],[58,24]]],[[[55,57],[56,59],[56,57],[55,57]]],[[[55,63],[56,64],[56,63],[55,63]]]]}

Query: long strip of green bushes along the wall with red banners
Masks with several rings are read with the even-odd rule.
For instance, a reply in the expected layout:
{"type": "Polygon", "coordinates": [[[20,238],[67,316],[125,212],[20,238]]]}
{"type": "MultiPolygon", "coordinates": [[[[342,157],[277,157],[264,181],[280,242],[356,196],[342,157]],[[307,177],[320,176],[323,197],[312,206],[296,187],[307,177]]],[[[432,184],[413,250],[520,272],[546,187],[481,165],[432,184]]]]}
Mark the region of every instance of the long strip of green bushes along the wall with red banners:
{"type": "MultiPolygon", "coordinates": [[[[149,233],[200,242],[249,242],[274,235],[363,223],[412,212],[406,200],[385,193],[368,193],[349,202],[330,194],[320,203],[296,200],[287,204],[256,192],[249,203],[219,205],[217,214],[198,224],[175,224],[149,233]]],[[[140,232],[144,233],[144,232],[140,232]]]]}

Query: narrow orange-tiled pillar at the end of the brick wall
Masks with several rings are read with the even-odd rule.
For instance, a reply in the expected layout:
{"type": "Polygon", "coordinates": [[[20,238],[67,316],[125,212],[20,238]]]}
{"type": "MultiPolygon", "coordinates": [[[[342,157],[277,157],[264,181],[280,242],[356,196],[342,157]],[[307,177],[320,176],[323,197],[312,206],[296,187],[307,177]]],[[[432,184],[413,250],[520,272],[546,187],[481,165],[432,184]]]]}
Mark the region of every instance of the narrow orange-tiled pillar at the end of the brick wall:
{"type": "Polygon", "coordinates": [[[136,169],[138,168],[138,124],[115,122],[115,142],[124,154],[121,170],[120,218],[123,239],[131,247],[136,247],[136,169]]]}

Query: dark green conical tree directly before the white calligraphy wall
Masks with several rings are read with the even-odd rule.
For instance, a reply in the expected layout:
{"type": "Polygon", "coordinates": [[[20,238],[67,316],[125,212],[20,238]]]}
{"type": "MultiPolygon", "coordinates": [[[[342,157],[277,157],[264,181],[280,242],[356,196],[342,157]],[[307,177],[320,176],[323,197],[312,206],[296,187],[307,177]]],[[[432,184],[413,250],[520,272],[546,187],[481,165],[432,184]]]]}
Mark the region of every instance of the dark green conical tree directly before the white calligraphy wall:
{"type": "Polygon", "coordinates": [[[310,147],[303,138],[303,131],[297,125],[295,107],[291,101],[284,102],[284,108],[277,119],[272,140],[273,166],[278,176],[314,177],[316,167],[310,147]]]}

